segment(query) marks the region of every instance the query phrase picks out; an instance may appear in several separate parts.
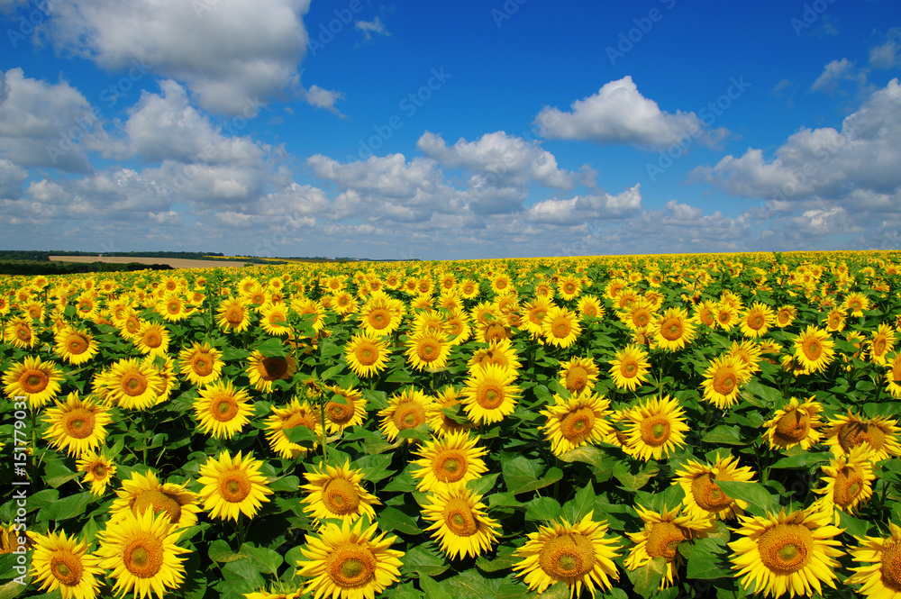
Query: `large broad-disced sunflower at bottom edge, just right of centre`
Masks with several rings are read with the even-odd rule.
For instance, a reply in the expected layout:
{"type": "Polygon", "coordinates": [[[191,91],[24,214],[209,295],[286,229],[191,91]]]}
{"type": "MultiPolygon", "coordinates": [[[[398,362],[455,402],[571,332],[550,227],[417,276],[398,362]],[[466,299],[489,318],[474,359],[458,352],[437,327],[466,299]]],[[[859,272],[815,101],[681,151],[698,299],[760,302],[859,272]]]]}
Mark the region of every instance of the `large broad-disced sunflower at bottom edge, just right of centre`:
{"type": "Polygon", "coordinates": [[[516,576],[525,576],[530,591],[544,593],[551,585],[563,583],[572,597],[580,596],[582,587],[595,596],[595,585],[602,591],[619,580],[614,559],[619,557],[619,540],[607,537],[607,523],[595,522],[588,513],[581,522],[566,520],[541,526],[530,532],[529,540],[514,555],[523,558],[514,565],[516,576]]]}

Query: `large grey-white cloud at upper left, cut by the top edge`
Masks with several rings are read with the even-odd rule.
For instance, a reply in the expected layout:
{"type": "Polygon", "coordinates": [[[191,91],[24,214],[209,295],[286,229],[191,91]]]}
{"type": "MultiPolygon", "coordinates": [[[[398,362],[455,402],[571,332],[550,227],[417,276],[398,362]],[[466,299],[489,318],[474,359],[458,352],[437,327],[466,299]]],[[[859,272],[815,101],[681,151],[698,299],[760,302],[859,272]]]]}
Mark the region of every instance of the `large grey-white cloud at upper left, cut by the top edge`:
{"type": "Polygon", "coordinates": [[[134,64],[187,84],[206,109],[241,113],[299,88],[309,0],[58,0],[60,50],[123,72],[134,64]]]}

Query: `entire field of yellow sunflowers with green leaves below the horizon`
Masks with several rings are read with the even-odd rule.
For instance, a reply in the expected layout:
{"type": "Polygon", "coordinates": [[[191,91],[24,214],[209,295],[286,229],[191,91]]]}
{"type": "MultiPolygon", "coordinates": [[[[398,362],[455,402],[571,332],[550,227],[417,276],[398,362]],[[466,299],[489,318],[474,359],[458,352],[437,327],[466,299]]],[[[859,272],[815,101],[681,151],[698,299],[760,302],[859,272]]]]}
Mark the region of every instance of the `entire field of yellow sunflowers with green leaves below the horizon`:
{"type": "Polygon", "coordinates": [[[901,599],[901,252],[0,277],[0,599],[901,599]]]}

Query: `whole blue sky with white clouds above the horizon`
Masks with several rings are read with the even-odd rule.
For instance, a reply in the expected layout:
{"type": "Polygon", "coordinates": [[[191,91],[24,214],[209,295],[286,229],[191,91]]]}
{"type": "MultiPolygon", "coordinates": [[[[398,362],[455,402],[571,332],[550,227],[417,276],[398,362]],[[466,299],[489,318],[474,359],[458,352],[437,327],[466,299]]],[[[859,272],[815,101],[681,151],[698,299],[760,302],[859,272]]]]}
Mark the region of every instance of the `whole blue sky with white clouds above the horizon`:
{"type": "Polygon", "coordinates": [[[0,0],[0,247],[898,249],[887,0],[0,0]]]}

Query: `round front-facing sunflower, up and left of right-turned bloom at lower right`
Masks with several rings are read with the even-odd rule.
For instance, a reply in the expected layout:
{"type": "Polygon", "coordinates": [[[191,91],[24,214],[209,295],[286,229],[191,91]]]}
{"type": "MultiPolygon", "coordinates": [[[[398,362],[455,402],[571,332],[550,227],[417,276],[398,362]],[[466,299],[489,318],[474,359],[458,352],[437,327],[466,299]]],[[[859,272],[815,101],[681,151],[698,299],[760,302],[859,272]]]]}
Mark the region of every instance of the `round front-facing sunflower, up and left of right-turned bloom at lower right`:
{"type": "Polygon", "coordinates": [[[627,414],[629,447],[635,457],[648,461],[661,459],[669,452],[685,445],[688,425],[685,412],[676,398],[651,397],[636,404],[627,414]]]}

